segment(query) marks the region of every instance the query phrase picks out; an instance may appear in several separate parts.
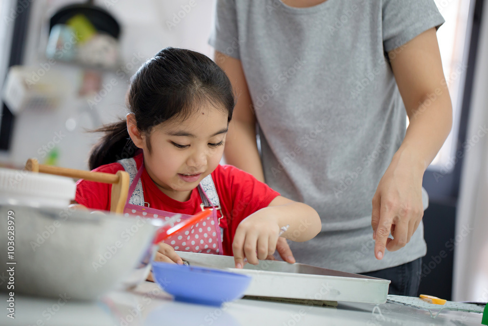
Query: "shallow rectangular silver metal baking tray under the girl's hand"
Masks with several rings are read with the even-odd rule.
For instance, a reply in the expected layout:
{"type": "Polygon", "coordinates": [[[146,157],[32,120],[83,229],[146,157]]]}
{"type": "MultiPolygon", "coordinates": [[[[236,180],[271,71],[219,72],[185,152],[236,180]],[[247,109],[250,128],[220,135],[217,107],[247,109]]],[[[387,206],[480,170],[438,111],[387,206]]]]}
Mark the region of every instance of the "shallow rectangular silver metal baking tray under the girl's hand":
{"type": "MultiPolygon", "coordinates": [[[[244,295],[300,300],[384,304],[390,281],[301,263],[259,261],[234,268],[234,257],[177,251],[190,266],[213,267],[252,277],[244,295]]],[[[306,303],[306,302],[305,302],[306,303]]]]}

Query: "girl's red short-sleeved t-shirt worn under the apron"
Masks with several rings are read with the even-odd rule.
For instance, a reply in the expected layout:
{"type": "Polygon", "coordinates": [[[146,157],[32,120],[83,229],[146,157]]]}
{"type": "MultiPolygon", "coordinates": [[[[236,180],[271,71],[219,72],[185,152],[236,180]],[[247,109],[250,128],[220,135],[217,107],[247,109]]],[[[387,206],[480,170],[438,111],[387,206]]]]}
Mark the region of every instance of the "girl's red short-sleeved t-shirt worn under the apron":
{"type": "MultiPolygon", "coordinates": [[[[142,153],[134,156],[139,169],[142,164],[142,153]]],[[[93,171],[116,174],[124,170],[119,163],[102,165],[93,171]]],[[[280,194],[254,176],[231,165],[219,165],[212,172],[212,179],[219,195],[222,214],[220,226],[224,229],[224,255],[232,256],[232,241],[239,223],[252,213],[267,207],[280,194]]],[[[193,189],[188,201],[178,201],[165,195],[150,178],[147,171],[141,175],[144,201],[149,207],[188,215],[201,212],[202,199],[198,189],[193,189]]],[[[76,184],[75,200],[88,208],[110,210],[112,185],[101,182],[79,180],[76,184]]],[[[220,214],[219,214],[220,215],[220,214]]],[[[220,216],[219,216],[220,217],[220,216]]]]}

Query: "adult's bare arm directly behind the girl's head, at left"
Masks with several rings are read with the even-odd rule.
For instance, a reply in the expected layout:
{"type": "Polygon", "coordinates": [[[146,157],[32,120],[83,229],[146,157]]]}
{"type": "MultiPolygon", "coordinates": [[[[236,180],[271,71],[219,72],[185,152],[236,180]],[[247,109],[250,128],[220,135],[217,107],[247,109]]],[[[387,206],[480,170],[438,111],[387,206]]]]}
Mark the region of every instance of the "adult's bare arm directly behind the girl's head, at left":
{"type": "Polygon", "coordinates": [[[264,182],[263,167],[256,144],[256,116],[241,61],[215,51],[215,62],[229,77],[238,99],[225,141],[225,162],[264,182]]]}

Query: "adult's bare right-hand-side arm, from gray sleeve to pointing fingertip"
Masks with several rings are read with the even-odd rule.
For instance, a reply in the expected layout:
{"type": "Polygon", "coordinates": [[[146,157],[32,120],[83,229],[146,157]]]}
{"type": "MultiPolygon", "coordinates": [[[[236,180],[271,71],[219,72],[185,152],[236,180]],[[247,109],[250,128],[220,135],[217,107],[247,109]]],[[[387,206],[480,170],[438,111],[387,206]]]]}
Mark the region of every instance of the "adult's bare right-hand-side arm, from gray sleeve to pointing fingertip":
{"type": "Polygon", "coordinates": [[[389,53],[410,124],[373,197],[375,256],[404,247],[424,215],[422,178],[447,138],[452,106],[435,28],[389,53]],[[391,231],[393,239],[388,239],[391,231]]]}

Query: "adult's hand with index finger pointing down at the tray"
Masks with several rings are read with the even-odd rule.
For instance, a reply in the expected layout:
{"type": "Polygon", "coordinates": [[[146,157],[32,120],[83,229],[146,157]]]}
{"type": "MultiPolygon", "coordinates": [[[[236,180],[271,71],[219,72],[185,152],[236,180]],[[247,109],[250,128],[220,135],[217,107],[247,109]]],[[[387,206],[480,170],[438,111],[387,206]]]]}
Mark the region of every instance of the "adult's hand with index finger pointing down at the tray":
{"type": "Polygon", "coordinates": [[[414,157],[403,155],[393,160],[373,196],[371,226],[374,253],[381,260],[388,251],[403,248],[424,216],[422,177],[424,170],[414,157]],[[388,238],[389,234],[393,239],[388,238]]]}

